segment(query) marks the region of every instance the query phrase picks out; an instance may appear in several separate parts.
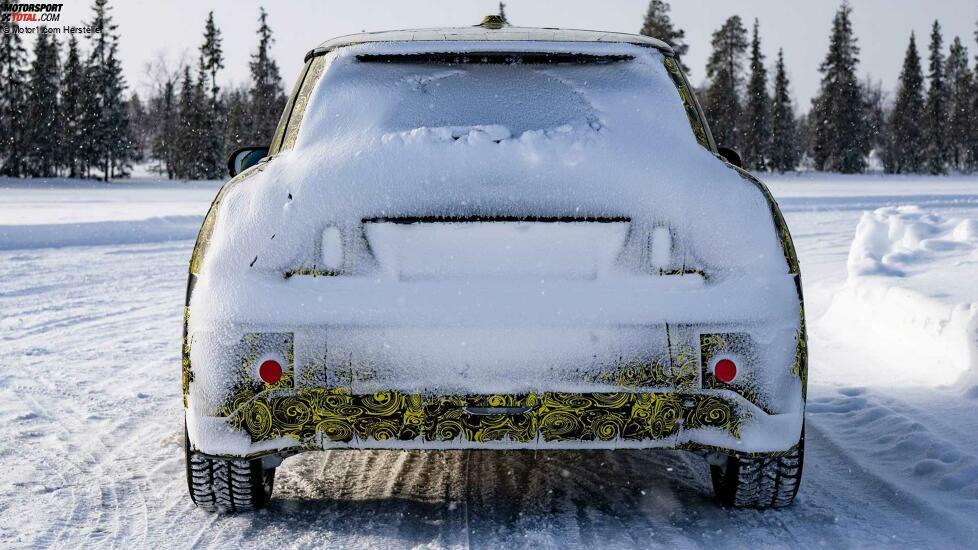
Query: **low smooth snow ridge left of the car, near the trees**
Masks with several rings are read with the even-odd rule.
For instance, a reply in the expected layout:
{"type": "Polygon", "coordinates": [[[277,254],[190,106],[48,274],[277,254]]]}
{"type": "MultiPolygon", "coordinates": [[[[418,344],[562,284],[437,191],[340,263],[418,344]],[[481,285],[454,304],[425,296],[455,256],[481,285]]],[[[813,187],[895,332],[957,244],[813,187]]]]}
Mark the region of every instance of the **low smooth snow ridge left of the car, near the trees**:
{"type": "Polygon", "coordinates": [[[194,239],[202,216],[137,221],[0,225],[0,250],[138,244],[194,239]]]}

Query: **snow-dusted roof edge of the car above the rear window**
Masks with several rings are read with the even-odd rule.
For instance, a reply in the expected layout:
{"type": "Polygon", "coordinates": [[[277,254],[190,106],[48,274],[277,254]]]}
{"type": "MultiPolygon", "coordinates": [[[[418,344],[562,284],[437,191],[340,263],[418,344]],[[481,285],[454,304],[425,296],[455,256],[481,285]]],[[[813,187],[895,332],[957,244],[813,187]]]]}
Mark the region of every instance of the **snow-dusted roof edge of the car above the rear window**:
{"type": "Polygon", "coordinates": [[[325,55],[331,51],[359,44],[409,42],[552,42],[552,43],[590,43],[590,44],[630,44],[659,50],[665,55],[675,57],[676,53],[665,42],[640,34],[604,32],[581,29],[558,29],[549,27],[511,27],[501,29],[474,27],[445,27],[432,29],[409,29],[399,31],[380,31],[339,36],[309,50],[305,61],[325,55]]]}

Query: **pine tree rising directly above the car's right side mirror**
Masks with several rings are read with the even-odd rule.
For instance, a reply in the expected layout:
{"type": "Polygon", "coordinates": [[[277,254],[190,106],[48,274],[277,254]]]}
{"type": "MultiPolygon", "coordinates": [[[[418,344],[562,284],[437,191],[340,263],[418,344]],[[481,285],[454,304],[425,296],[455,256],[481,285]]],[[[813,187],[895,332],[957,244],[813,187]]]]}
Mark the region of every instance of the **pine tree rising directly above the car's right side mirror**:
{"type": "Polygon", "coordinates": [[[706,116],[717,144],[737,147],[740,122],[740,92],[743,56],[747,51],[747,29],[734,15],[713,33],[713,52],[706,64],[706,116]]]}

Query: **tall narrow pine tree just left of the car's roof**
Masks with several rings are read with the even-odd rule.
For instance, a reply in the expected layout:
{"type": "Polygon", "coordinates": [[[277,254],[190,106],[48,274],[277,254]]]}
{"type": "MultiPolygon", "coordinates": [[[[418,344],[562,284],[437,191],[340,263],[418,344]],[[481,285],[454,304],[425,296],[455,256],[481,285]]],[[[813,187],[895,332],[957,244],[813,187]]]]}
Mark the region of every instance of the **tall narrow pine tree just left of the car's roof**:
{"type": "Polygon", "coordinates": [[[258,15],[258,50],[251,55],[251,145],[269,145],[285,108],[285,93],[278,64],[271,57],[272,29],[268,13],[258,15]]]}

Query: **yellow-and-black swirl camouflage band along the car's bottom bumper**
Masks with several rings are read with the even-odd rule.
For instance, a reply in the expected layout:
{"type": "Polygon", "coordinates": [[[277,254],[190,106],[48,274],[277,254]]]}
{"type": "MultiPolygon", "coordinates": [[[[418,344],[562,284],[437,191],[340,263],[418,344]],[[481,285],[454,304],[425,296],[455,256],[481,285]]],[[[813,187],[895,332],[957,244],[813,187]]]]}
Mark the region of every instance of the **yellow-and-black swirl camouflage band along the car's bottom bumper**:
{"type": "Polygon", "coordinates": [[[252,440],[295,439],[307,448],[324,441],[509,440],[644,441],[681,429],[718,428],[739,437],[744,412],[715,395],[678,393],[530,393],[437,396],[345,389],[243,391],[224,409],[231,426],[252,440]],[[525,408],[520,414],[475,414],[470,409],[525,408]]]}

